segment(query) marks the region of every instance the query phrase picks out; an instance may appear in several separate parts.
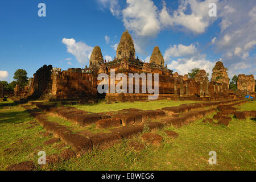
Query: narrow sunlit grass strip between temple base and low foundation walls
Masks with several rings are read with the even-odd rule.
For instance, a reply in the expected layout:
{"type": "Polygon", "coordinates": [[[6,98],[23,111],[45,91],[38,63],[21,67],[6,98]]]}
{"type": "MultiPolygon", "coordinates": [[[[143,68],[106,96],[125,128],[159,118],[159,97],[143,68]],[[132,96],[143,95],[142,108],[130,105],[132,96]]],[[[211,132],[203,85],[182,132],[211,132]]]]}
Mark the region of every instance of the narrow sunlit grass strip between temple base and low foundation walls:
{"type": "Polygon", "coordinates": [[[105,104],[106,101],[100,101],[97,104],[86,104],[86,105],[67,105],[76,107],[77,109],[90,111],[93,113],[101,113],[108,111],[118,111],[122,109],[142,109],[142,110],[154,110],[154,109],[162,109],[163,107],[171,107],[171,106],[179,106],[181,104],[190,104],[195,103],[197,101],[168,101],[168,100],[156,100],[150,102],[120,102],[113,104],[105,104]]]}

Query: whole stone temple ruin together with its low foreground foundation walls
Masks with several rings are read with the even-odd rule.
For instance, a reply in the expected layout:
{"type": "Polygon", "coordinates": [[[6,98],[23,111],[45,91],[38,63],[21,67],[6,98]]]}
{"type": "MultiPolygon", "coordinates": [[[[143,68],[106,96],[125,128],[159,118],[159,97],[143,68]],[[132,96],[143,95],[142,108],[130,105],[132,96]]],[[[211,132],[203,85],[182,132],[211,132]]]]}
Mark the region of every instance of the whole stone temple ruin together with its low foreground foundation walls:
{"type": "MultiPolygon", "coordinates": [[[[164,67],[164,59],[159,47],[154,48],[150,63],[144,63],[138,57],[137,59],[135,57],[133,39],[126,31],[121,37],[117,48],[117,55],[113,61],[104,62],[101,49],[96,46],[90,57],[89,68],[70,68],[67,71],[61,71],[60,68],[53,68],[52,65],[44,65],[36,71],[34,78],[30,78],[28,86],[24,89],[20,89],[17,85],[14,94],[15,96],[26,97],[31,100],[60,101],[60,103],[30,101],[28,104],[21,106],[43,126],[44,130],[71,146],[78,156],[93,151],[95,148],[104,150],[105,148],[112,147],[123,139],[131,138],[135,134],[144,133],[146,131],[145,127],[148,131],[163,129],[164,126],[181,127],[197,119],[202,119],[217,110],[220,112],[215,114],[213,118],[218,120],[218,124],[226,126],[232,120],[229,117],[230,114],[233,114],[238,119],[245,119],[246,117],[255,118],[256,111],[237,112],[237,108],[233,107],[241,105],[246,101],[233,99],[241,95],[229,90],[229,78],[221,62],[216,63],[213,69],[213,78],[209,81],[208,75],[203,69],[197,73],[195,78],[191,79],[188,78],[188,75],[182,76],[164,67]],[[110,77],[112,69],[115,70],[115,74],[124,73],[126,77],[129,76],[129,73],[158,73],[159,99],[213,102],[167,106],[156,110],[129,108],[97,113],[65,106],[66,104],[64,103],[69,100],[81,103],[82,101],[97,100],[102,97],[106,98],[108,102],[148,100],[148,95],[150,95],[148,91],[147,93],[139,94],[99,94],[97,88],[101,81],[98,81],[98,75],[106,73],[107,77],[110,77]],[[57,121],[57,119],[56,121],[52,120],[49,116],[75,123],[76,126],[80,127],[79,131],[69,124],[66,125],[64,122],[57,121]],[[94,125],[96,129],[104,129],[104,131],[99,130],[99,133],[92,133],[86,127],[94,127],[94,125]]],[[[243,90],[243,92],[254,92],[253,79],[253,77],[240,76],[238,79],[238,83],[241,85],[239,89],[243,90]]],[[[118,80],[114,82],[115,85],[118,83],[118,80]]],[[[142,89],[143,84],[144,82],[141,81],[139,84],[140,89],[142,89]]],[[[213,121],[212,118],[207,119],[208,121],[206,122],[213,121]]],[[[176,135],[176,137],[178,135],[174,131],[167,132],[169,137],[170,135],[176,135]]],[[[144,143],[150,142],[156,146],[163,142],[163,138],[154,133],[144,133],[141,139],[144,143]],[[155,138],[158,139],[158,142],[155,142],[155,138]]],[[[130,145],[129,143],[128,146],[130,145]]],[[[138,142],[135,144],[138,144],[138,142]]],[[[144,144],[142,146],[144,147],[144,144]]],[[[52,155],[54,158],[58,156],[52,155]]],[[[50,156],[49,158],[51,159],[50,156]]]]}

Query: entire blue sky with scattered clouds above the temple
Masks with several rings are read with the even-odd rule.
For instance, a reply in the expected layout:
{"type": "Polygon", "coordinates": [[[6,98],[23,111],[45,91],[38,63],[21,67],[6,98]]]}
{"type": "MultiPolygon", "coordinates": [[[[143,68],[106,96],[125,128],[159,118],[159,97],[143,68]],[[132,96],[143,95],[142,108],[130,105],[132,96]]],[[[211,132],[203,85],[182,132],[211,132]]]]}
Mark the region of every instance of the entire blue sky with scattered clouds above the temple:
{"type": "Polygon", "coordinates": [[[1,2],[0,24],[0,80],[9,82],[16,69],[32,77],[44,64],[84,68],[94,46],[111,60],[126,29],[139,59],[148,61],[159,46],[180,75],[192,68],[211,73],[218,60],[230,78],[256,75],[255,1],[10,0],[1,2]],[[40,2],[46,17],[38,16],[40,2]],[[211,2],[217,17],[208,14],[211,2]]]}

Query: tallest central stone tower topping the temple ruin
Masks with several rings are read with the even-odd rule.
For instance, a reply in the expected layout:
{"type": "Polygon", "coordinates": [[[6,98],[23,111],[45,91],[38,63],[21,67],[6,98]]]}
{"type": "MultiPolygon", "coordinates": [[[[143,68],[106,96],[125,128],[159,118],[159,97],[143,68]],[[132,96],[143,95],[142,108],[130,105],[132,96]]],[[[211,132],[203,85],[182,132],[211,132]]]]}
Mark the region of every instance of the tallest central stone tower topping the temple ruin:
{"type": "Polygon", "coordinates": [[[123,32],[119,45],[117,47],[117,59],[135,59],[135,48],[133,38],[126,30],[123,32]]]}

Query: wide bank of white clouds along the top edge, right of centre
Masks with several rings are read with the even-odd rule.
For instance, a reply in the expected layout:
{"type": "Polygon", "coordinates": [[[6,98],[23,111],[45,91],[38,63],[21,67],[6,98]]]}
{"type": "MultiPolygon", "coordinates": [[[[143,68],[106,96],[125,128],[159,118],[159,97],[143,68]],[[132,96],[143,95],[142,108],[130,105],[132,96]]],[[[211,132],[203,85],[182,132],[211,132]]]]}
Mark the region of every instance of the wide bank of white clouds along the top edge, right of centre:
{"type": "MultiPolygon", "coordinates": [[[[164,1],[162,10],[158,10],[152,0],[126,0],[127,7],[121,11],[118,0],[98,0],[98,2],[104,7],[110,7],[113,15],[118,16],[122,13],[124,26],[139,36],[156,36],[161,28],[168,26],[182,26],[196,34],[201,34],[217,19],[209,16],[208,5],[217,3],[218,0],[181,1],[178,9],[172,14],[164,1]],[[186,14],[189,7],[191,14],[186,14]]],[[[232,7],[226,6],[226,10],[232,11],[232,7]]]]}

